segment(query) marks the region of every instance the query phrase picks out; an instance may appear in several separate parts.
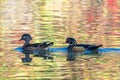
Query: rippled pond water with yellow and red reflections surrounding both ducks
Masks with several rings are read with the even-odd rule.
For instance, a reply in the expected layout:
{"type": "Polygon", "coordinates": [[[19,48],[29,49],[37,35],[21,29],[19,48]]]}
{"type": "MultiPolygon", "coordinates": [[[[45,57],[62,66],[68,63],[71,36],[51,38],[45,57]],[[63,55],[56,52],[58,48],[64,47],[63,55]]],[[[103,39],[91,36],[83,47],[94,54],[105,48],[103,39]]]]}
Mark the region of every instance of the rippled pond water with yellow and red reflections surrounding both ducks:
{"type": "MultiPolygon", "coordinates": [[[[119,80],[120,47],[119,0],[0,0],[0,79],[33,80],[119,80]],[[99,44],[107,49],[102,56],[83,55],[68,62],[64,56],[54,61],[33,58],[23,64],[19,38],[30,33],[32,42],[54,41],[66,47],[65,39],[99,44]]],[[[57,54],[57,53],[56,53],[57,54]]]]}

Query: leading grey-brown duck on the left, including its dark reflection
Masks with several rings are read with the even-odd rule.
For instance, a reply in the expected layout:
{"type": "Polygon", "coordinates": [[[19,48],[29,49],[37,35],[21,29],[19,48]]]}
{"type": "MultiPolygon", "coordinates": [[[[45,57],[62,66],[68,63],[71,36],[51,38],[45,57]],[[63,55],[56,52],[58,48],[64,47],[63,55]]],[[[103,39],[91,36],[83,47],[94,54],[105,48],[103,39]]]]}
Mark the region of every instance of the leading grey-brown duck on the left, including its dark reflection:
{"type": "Polygon", "coordinates": [[[49,54],[49,47],[53,45],[53,42],[42,42],[42,43],[34,43],[30,44],[30,41],[32,40],[32,37],[30,34],[23,34],[21,40],[24,40],[25,43],[22,46],[23,48],[23,54],[25,54],[25,58],[22,59],[22,62],[31,62],[32,58],[30,58],[30,54],[38,53],[40,57],[43,57],[44,59],[53,59],[53,57],[49,54]]]}

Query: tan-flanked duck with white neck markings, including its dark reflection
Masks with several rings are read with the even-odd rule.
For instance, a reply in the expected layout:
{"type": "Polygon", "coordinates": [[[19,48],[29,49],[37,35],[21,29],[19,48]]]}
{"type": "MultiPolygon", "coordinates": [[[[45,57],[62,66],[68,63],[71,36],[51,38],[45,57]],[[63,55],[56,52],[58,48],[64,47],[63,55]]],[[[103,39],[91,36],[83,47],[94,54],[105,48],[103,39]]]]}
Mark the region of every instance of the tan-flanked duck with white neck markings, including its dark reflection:
{"type": "MultiPolygon", "coordinates": [[[[67,60],[75,60],[75,52],[85,52],[89,51],[91,54],[99,54],[98,48],[103,45],[91,45],[91,44],[77,44],[77,41],[69,37],[66,39],[66,43],[68,43],[68,58],[67,60]]],[[[89,53],[90,54],[90,53],[89,53]]]]}

